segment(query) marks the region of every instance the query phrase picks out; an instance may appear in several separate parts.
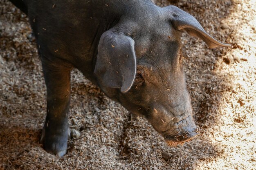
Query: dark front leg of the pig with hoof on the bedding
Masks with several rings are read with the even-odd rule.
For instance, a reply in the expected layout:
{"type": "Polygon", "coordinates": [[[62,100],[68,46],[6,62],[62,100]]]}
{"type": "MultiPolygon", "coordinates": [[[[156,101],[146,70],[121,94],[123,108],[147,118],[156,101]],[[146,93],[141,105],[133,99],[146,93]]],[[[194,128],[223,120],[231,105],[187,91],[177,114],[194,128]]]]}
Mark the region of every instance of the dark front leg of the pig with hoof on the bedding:
{"type": "Polygon", "coordinates": [[[70,70],[58,63],[42,59],[47,87],[47,115],[40,142],[47,152],[65,155],[69,136],[70,70]]]}

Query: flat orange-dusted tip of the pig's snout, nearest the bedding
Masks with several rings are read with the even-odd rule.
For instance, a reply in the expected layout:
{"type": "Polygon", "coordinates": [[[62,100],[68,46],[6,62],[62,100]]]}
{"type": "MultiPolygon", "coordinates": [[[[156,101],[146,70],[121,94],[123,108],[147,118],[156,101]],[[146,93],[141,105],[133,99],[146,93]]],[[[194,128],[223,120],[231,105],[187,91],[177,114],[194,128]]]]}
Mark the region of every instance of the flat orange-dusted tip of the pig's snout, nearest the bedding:
{"type": "Polygon", "coordinates": [[[183,144],[186,141],[191,140],[193,137],[199,135],[199,129],[195,129],[191,132],[183,132],[178,135],[167,135],[165,136],[165,141],[168,145],[174,146],[177,144],[183,144]]]}

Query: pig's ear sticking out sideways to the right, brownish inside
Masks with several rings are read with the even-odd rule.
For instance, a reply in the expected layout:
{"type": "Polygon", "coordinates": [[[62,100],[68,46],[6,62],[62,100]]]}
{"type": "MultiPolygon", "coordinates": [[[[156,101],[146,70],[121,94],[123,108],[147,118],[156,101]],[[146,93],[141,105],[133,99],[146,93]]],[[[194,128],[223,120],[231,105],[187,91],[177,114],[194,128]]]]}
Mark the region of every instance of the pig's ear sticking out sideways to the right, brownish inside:
{"type": "Polygon", "coordinates": [[[230,44],[225,44],[214,39],[211,35],[204,31],[204,28],[189,13],[186,13],[185,11],[182,11],[175,6],[168,6],[166,7],[166,9],[168,10],[168,13],[171,13],[171,24],[174,26],[175,29],[186,30],[189,35],[199,37],[209,46],[209,48],[216,48],[219,46],[231,46],[230,44]]]}

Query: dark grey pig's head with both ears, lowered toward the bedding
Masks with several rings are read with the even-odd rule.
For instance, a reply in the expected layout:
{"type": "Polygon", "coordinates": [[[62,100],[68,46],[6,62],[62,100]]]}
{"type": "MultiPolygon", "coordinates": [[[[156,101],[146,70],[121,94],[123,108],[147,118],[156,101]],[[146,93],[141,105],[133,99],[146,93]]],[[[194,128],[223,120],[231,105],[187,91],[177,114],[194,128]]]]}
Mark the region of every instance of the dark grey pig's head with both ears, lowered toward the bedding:
{"type": "Polygon", "coordinates": [[[110,98],[145,116],[169,145],[179,144],[198,135],[182,66],[181,31],[210,48],[229,44],[211,37],[177,7],[152,10],[123,16],[103,33],[94,73],[110,98]]]}

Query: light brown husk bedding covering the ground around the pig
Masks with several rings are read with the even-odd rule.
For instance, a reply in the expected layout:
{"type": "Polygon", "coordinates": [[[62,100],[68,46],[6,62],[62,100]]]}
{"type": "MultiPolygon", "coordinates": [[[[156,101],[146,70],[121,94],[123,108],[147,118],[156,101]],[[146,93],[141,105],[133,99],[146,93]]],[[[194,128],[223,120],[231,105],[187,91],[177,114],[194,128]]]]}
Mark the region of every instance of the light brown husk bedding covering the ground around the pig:
{"type": "MultiPolygon", "coordinates": [[[[157,5],[170,4],[156,0],[157,5]]],[[[201,133],[168,147],[144,119],[72,72],[70,127],[81,133],[61,158],[39,144],[45,83],[27,17],[0,1],[0,169],[255,169],[256,3],[178,0],[211,35],[208,49],[184,33],[187,87],[201,133]]]]}

